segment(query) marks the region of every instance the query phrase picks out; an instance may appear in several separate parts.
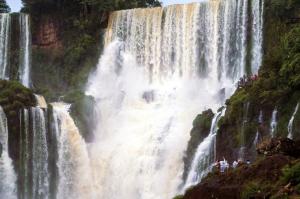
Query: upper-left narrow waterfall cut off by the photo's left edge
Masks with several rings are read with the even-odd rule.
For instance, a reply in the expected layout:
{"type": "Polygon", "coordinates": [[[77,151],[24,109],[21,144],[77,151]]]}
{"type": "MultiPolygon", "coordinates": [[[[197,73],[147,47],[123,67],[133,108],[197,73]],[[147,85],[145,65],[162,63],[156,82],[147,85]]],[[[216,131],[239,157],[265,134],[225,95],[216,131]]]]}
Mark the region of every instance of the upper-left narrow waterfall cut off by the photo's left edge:
{"type": "Polygon", "coordinates": [[[0,14],[0,79],[9,79],[10,15],[0,14]]]}

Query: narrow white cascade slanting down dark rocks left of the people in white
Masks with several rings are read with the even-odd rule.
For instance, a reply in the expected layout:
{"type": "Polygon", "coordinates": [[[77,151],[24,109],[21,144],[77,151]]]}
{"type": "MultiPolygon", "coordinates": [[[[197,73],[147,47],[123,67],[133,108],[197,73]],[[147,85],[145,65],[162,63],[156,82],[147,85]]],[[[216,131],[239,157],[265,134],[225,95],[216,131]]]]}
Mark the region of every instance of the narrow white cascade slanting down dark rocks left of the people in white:
{"type": "Polygon", "coordinates": [[[211,170],[212,164],[216,159],[215,142],[218,131],[218,122],[224,113],[225,110],[215,114],[211,123],[209,135],[200,143],[197,148],[191,170],[189,171],[183,190],[199,183],[201,179],[211,170]]]}

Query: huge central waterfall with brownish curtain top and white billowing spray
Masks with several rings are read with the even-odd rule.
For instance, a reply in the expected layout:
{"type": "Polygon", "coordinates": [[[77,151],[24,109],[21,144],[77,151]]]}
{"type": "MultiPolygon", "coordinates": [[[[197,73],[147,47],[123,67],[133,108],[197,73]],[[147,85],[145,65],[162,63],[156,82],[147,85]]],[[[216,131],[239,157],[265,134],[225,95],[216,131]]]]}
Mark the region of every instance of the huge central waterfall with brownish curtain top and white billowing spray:
{"type": "Polygon", "coordinates": [[[97,198],[171,198],[179,191],[191,121],[216,110],[238,78],[261,64],[263,2],[252,2],[110,15],[86,91],[97,102],[90,147],[97,198]]]}

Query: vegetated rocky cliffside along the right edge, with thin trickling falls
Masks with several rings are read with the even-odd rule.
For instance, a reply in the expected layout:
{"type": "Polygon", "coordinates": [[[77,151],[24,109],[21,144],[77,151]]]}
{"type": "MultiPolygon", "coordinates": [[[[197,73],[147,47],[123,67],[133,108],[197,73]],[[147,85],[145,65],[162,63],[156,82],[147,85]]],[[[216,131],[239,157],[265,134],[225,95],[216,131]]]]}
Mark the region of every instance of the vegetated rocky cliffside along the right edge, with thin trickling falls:
{"type": "MultiPolygon", "coordinates": [[[[290,182],[279,182],[284,166],[299,172],[294,157],[256,153],[257,143],[270,137],[300,139],[300,2],[265,1],[264,9],[263,64],[258,78],[241,85],[226,101],[226,113],[218,123],[215,157],[225,157],[230,163],[239,158],[257,162],[225,176],[211,173],[178,198],[276,198],[290,182]],[[253,190],[260,194],[247,195],[253,190]]],[[[285,194],[299,194],[296,192],[285,194]]]]}

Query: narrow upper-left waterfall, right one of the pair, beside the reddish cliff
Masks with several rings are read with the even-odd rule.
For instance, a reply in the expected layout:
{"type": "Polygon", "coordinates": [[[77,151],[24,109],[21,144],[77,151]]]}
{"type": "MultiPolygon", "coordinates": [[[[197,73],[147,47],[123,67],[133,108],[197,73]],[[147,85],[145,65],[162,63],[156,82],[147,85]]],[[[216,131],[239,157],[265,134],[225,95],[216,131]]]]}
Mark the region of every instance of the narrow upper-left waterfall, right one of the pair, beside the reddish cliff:
{"type": "Polygon", "coordinates": [[[31,66],[31,34],[29,15],[20,13],[20,66],[19,79],[20,82],[30,87],[30,66],[31,66]]]}

